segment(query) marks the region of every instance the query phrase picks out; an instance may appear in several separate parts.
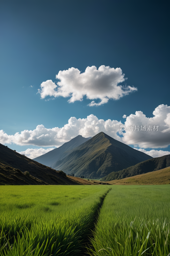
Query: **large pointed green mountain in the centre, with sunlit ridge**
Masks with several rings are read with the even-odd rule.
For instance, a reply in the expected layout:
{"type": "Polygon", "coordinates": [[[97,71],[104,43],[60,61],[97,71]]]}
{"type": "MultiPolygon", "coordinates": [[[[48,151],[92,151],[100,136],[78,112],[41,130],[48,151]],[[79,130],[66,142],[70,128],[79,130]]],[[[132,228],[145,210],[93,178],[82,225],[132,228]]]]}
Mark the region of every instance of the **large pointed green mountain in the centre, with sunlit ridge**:
{"type": "Polygon", "coordinates": [[[98,133],[69,153],[56,161],[53,168],[90,179],[103,178],[110,172],[117,172],[152,158],[104,132],[98,133]]]}

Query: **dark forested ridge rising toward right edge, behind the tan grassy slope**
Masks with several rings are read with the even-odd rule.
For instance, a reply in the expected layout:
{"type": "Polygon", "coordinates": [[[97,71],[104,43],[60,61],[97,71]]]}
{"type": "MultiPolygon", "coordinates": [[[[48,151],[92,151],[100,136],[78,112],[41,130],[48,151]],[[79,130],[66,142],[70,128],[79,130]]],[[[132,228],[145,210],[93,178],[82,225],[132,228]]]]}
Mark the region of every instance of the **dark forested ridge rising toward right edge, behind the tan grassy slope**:
{"type": "Polygon", "coordinates": [[[170,166],[170,155],[155,157],[138,163],[119,172],[111,172],[101,179],[101,181],[120,180],[138,174],[157,171],[170,166]]]}

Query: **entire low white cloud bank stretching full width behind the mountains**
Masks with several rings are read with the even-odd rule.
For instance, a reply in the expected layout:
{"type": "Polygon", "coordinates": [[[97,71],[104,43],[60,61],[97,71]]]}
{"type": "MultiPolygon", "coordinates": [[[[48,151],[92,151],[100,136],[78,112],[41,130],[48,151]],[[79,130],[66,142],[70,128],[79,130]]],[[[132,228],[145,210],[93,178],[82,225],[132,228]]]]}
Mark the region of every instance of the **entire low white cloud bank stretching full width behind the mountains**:
{"type": "Polygon", "coordinates": [[[127,116],[125,126],[126,132],[120,132],[121,121],[98,119],[94,115],[87,118],[71,117],[68,124],[62,128],[55,127],[47,129],[44,125],[38,125],[35,130],[24,130],[21,133],[8,135],[0,131],[0,143],[15,143],[17,145],[35,145],[39,147],[61,146],[78,135],[93,137],[99,132],[105,132],[112,138],[122,141],[128,145],[140,148],[166,148],[170,145],[170,107],[159,105],[153,111],[153,117],[146,117],[143,112],[136,111],[135,115],[127,116]],[[133,131],[128,131],[128,126],[133,125],[133,131]],[[139,131],[135,130],[139,126],[139,131]],[[152,126],[152,131],[140,131],[140,127],[152,126]],[[158,131],[153,131],[153,126],[159,126],[158,131]],[[119,136],[122,135],[122,137],[119,136]]]}

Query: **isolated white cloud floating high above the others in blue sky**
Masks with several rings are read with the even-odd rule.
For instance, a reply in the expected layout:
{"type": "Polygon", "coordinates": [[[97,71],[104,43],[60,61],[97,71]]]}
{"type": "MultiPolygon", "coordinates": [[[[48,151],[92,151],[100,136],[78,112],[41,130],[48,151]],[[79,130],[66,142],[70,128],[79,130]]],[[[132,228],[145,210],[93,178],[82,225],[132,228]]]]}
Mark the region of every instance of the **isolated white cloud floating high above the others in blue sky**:
{"type": "Polygon", "coordinates": [[[52,80],[41,84],[41,89],[38,90],[41,98],[70,97],[68,101],[71,103],[82,101],[83,96],[86,96],[87,99],[93,100],[89,106],[99,106],[107,103],[109,99],[118,100],[130,92],[137,91],[135,87],[118,85],[126,79],[121,68],[102,65],[98,69],[95,66],[87,67],[84,73],[80,72],[78,68],[59,71],[56,75],[60,80],[57,85],[52,80]],[[100,99],[100,102],[96,103],[94,99],[100,99]]]}

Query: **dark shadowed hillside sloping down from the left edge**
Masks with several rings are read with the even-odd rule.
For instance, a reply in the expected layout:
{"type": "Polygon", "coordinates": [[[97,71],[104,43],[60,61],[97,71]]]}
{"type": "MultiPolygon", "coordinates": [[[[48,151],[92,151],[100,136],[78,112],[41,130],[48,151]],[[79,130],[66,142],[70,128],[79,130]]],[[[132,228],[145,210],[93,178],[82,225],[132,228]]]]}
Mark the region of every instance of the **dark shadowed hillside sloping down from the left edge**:
{"type": "MultiPolygon", "coordinates": [[[[31,176],[35,177],[38,180],[43,181],[44,183],[50,185],[77,185],[78,183],[69,179],[63,172],[58,172],[50,167],[47,167],[43,164],[35,162],[26,156],[22,156],[21,154],[15,152],[14,150],[0,144],[0,164],[1,166],[7,165],[8,167],[12,167],[12,169],[19,169],[21,172],[29,172],[31,176]]],[[[2,168],[0,169],[0,177],[3,179],[3,175],[6,176],[10,175],[9,170],[11,168],[2,168]]],[[[14,170],[14,172],[16,172],[14,170]]],[[[12,174],[12,172],[11,172],[12,174]]],[[[16,173],[15,176],[18,174],[16,173]]],[[[18,177],[18,176],[17,176],[18,177]]],[[[15,179],[16,182],[12,182],[13,184],[17,183],[17,178],[15,179]]],[[[35,181],[35,180],[34,180],[35,181]]],[[[42,183],[43,183],[42,182],[42,183]]],[[[2,181],[2,183],[4,183],[2,181]]],[[[9,182],[10,183],[10,182],[9,182]]],[[[17,183],[20,184],[19,181],[17,183]]]]}

